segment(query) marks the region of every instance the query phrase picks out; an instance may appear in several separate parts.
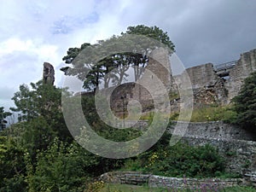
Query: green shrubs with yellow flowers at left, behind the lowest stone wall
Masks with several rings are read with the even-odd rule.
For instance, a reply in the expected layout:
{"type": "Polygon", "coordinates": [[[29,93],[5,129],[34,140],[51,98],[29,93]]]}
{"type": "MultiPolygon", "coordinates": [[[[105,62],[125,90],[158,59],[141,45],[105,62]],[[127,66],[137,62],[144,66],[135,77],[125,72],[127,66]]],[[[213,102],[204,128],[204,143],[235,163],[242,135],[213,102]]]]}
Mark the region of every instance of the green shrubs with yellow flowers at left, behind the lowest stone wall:
{"type": "Polygon", "coordinates": [[[210,145],[189,146],[177,143],[169,146],[168,134],[137,159],[126,161],[125,169],[150,172],[169,177],[219,177],[224,174],[224,159],[210,145]]]}

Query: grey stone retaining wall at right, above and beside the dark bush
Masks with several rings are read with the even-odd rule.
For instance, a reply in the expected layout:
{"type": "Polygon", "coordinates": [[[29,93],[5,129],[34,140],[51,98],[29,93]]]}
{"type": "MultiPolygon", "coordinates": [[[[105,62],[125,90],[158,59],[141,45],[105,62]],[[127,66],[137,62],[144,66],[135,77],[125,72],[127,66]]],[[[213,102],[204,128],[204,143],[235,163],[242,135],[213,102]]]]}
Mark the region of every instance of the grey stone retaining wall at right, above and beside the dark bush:
{"type": "MultiPolygon", "coordinates": [[[[182,141],[189,145],[211,144],[218,148],[228,162],[227,172],[244,175],[247,171],[256,172],[256,133],[241,129],[238,125],[218,122],[179,122],[188,125],[182,141]]],[[[169,127],[172,133],[173,126],[169,127]]]]}

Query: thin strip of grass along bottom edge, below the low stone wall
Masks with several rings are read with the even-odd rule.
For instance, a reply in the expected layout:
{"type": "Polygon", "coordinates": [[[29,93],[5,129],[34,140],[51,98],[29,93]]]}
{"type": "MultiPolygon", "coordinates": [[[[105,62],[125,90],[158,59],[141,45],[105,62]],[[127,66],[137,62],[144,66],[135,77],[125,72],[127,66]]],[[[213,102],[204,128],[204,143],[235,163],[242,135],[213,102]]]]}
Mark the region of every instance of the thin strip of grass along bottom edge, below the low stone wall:
{"type": "Polygon", "coordinates": [[[227,187],[224,189],[210,190],[210,189],[167,189],[167,188],[149,188],[148,186],[137,186],[128,184],[111,184],[106,183],[105,187],[100,189],[101,192],[207,192],[207,191],[219,191],[219,192],[255,192],[253,187],[227,187]]]}

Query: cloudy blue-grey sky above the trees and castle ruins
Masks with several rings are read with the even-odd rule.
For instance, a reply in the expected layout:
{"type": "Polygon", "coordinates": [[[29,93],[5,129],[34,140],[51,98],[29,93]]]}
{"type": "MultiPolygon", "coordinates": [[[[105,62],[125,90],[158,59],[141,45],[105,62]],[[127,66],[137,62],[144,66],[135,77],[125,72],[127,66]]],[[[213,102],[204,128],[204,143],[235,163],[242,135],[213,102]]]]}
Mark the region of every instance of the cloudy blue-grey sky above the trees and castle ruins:
{"type": "Polygon", "coordinates": [[[8,0],[0,7],[0,106],[20,84],[42,78],[44,61],[55,67],[70,47],[110,38],[127,26],[159,26],[176,45],[185,67],[239,59],[256,48],[254,0],[8,0]]]}

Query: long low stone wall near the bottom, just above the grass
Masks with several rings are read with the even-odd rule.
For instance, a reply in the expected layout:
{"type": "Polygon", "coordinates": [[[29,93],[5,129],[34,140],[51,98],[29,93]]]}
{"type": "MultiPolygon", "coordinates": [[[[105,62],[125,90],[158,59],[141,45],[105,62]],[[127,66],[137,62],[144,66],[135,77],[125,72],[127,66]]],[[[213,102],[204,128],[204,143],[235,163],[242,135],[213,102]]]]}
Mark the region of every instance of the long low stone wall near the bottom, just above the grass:
{"type": "Polygon", "coordinates": [[[181,178],[181,177],[161,177],[140,172],[107,172],[99,180],[105,183],[120,183],[143,185],[149,187],[164,187],[169,189],[222,189],[237,185],[247,184],[242,178],[181,178]]]}

